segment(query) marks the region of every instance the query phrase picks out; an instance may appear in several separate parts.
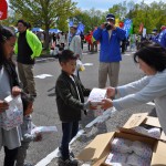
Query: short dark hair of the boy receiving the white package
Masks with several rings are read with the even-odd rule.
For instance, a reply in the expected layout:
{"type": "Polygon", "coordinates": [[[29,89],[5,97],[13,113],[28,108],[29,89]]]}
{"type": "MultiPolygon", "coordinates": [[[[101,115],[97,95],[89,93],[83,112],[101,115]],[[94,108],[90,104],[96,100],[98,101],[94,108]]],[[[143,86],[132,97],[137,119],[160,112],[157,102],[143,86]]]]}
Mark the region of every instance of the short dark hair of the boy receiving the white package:
{"type": "Polygon", "coordinates": [[[74,55],[74,52],[71,50],[63,50],[61,54],[59,54],[59,62],[69,62],[70,60],[76,60],[77,58],[74,55]]]}

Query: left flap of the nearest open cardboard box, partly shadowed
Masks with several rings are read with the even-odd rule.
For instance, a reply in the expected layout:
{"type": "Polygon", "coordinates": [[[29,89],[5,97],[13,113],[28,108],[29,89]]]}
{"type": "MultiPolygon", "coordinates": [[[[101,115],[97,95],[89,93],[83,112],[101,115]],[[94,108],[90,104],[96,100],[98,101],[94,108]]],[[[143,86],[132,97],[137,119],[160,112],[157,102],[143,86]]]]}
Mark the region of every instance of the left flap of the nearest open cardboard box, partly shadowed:
{"type": "MultiPolygon", "coordinates": [[[[80,160],[95,160],[103,157],[103,152],[108,145],[114,132],[97,135],[76,157],[80,160]]],[[[110,151],[110,149],[108,149],[110,151]]],[[[107,151],[105,152],[107,154],[107,151]]]]}

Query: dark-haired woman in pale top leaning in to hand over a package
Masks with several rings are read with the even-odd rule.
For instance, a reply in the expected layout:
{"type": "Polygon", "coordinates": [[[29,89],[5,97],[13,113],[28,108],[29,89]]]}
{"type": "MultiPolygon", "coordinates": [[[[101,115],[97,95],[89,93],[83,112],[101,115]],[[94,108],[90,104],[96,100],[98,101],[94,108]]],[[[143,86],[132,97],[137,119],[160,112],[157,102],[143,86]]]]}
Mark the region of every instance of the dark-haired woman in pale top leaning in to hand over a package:
{"type": "Polygon", "coordinates": [[[117,111],[154,101],[159,123],[166,134],[166,50],[149,43],[134,54],[134,61],[146,74],[143,79],[123,86],[107,87],[107,96],[121,98],[102,101],[102,108],[114,106],[117,111]]]}

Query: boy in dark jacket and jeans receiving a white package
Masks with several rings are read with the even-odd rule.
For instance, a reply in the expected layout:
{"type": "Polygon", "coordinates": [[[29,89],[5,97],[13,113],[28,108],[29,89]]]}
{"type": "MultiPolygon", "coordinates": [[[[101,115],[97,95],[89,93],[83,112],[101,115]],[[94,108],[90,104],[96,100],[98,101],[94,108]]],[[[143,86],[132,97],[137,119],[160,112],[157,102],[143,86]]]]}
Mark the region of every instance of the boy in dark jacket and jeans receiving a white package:
{"type": "Polygon", "coordinates": [[[59,166],[77,166],[77,160],[72,158],[69,152],[69,143],[79,131],[81,111],[86,113],[90,102],[84,103],[84,96],[89,96],[91,90],[85,89],[73,73],[76,68],[76,56],[70,50],[64,50],[59,56],[62,73],[56,80],[55,94],[56,105],[62,122],[62,142],[59,166]]]}

